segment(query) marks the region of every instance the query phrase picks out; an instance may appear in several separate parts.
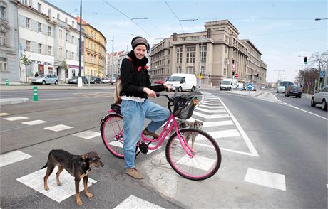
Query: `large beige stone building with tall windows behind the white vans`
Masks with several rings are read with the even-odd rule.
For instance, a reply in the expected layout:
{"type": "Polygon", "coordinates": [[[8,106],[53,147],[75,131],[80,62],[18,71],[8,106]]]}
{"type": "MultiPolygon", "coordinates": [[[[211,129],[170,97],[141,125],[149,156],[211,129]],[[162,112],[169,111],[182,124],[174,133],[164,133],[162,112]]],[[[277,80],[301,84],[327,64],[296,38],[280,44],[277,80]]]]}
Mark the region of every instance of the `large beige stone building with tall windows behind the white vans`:
{"type": "Polygon", "coordinates": [[[150,77],[165,80],[172,73],[202,75],[204,85],[220,85],[224,78],[238,74],[240,82],[264,85],[267,66],[260,50],[228,20],[205,23],[205,31],[173,33],[151,49],[150,77]]]}

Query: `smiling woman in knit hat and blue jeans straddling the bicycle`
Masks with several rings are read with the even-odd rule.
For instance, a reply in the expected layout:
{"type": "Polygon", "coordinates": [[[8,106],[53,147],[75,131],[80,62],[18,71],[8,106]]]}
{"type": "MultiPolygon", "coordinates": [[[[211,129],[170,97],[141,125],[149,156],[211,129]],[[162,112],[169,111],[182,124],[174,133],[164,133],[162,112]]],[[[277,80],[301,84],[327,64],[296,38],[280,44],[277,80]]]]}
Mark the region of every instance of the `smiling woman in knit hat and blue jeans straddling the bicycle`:
{"type": "Polygon", "coordinates": [[[148,97],[156,97],[155,92],[166,89],[170,85],[151,86],[148,74],[148,58],[145,57],[149,51],[148,41],[137,36],[131,41],[132,50],[128,58],[121,65],[121,114],[123,115],[124,144],[123,154],[125,168],[129,176],[142,179],[143,175],[135,168],[135,147],[143,130],[145,118],[151,122],[143,130],[143,134],[158,137],[155,131],[164,124],[170,112],[158,104],[150,102],[148,97]]]}

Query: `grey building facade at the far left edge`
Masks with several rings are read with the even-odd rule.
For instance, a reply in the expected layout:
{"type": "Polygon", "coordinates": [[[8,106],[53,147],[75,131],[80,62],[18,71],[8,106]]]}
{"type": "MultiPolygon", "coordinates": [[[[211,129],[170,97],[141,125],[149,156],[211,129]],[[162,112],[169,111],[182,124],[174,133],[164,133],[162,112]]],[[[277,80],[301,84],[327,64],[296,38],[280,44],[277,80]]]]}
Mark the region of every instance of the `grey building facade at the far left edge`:
{"type": "Polygon", "coordinates": [[[0,0],[1,82],[20,81],[17,1],[0,0]]]}

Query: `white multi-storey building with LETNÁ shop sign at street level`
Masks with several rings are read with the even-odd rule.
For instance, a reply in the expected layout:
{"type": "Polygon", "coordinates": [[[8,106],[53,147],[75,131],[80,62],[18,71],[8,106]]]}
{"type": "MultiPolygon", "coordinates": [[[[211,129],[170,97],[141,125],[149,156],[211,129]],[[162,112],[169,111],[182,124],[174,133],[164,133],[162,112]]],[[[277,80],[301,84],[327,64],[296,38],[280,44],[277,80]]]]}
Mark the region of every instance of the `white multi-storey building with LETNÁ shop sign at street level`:
{"type": "Polygon", "coordinates": [[[56,74],[63,81],[78,75],[79,25],[74,16],[47,1],[21,0],[18,18],[20,60],[29,60],[21,62],[21,82],[36,72],[56,74]]]}

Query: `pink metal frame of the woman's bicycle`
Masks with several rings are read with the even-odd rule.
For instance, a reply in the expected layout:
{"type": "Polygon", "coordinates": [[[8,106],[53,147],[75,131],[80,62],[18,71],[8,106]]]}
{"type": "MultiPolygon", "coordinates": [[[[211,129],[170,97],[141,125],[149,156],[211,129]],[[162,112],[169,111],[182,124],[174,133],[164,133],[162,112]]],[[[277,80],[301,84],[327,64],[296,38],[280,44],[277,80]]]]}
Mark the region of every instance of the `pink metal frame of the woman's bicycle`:
{"type": "MultiPolygon", "coordinates": [[[[109,109],[108,114],[117,114],[117,113],[114,112],[112,109],[109,109]]],[[[160,132],[160,136],[157,139],[149,139],[143,135],[143,132],[141,132],[141,139],[142,139],[143,143],[145,143],[147,141],[149,141],[150,143],[158,142],[158,144],[156,144],[155,146],[148,146],[148,149],[150,149],[150,150],[158,149],[158,147],[160,145],[162,145],[164,139],[166,138],[166,136],[168,136],[168,134],[170,134],[170,132],[173,130],[173,128],[175,128],[175,132],[177,133],[178,139],[180,141],[181,146],[183,146],[185,153],[188,154],[188,156],[193,157],[194,151],[188,145],[187,141],[185,141],[185,138],[180,135],[178,123],[175,120],[175,117],[173,116],[172,113],[170,114],[168,121],[165,123],[165,127],[163,128],[162,132],[160,132]]],[[[122,135],[123,135],[123,129],[121,130],[120,133],[116,134],[117,139],[119,139],[120,138],[119,136],[122,136],[122,135]]]]}

